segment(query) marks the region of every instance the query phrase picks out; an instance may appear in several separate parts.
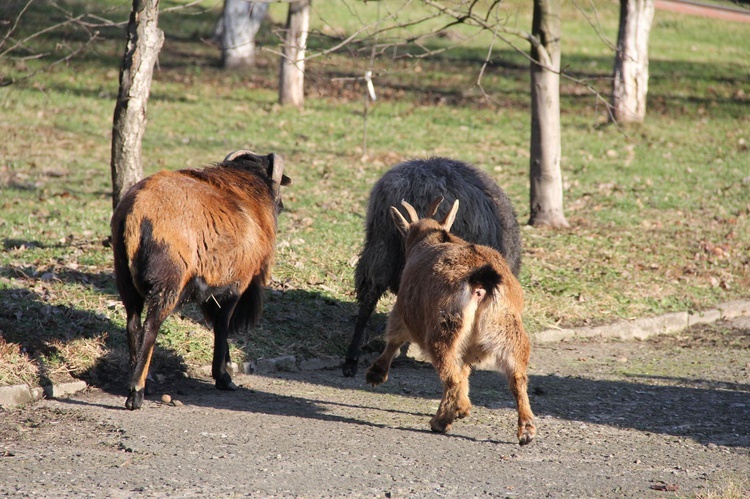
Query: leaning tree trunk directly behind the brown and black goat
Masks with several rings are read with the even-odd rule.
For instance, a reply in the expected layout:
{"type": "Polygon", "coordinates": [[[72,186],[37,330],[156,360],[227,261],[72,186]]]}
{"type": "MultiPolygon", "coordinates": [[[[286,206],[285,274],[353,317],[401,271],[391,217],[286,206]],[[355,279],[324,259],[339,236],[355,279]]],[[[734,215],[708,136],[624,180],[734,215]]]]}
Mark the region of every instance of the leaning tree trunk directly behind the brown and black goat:
{"type": "Polygon", "coordinates": [[[154,64],[164,43],[159,0],[133,0],[128,39],[120,67],[120,91],[112,121],[112,202],[143,178],[141,140],[154,64]]]}

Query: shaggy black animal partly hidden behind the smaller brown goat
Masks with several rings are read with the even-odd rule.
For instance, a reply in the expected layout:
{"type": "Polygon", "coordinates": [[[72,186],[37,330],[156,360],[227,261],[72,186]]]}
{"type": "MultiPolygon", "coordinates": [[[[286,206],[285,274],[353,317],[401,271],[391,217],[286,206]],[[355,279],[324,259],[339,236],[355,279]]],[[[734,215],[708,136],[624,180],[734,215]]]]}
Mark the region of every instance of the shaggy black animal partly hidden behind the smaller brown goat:
{"type": "Polygon", "coordinates": [[[448,206],[461,199],[462,210],[453,224],[453,233],[466,241],[496,249],[518,276],[521,235],[516,214],[508,196],[489,175],[448,158],[414,159],[396,165],[370,192],[365,245],[355,271],[359,313],[343,366],[345,376],[357,373],[365,327],[378,300],[386,290],[398,293],[404,268],[404,241],[391,219],[391,206],[399,206],[406,200],[424,213],[439,196],[445,198],[448,206]]]}

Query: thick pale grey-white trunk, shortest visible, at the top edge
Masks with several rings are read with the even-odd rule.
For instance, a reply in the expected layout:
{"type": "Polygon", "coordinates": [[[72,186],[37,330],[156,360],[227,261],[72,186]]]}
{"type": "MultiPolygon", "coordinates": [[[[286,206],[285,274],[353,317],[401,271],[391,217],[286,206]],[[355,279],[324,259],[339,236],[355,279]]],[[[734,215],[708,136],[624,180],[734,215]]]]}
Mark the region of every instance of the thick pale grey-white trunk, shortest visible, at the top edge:
{"type": "Polygon", "coordinates": [[[268,12],[268,3],[225,0],[217,34],[224,69],[255,65],[255,35],[268,12]]]}

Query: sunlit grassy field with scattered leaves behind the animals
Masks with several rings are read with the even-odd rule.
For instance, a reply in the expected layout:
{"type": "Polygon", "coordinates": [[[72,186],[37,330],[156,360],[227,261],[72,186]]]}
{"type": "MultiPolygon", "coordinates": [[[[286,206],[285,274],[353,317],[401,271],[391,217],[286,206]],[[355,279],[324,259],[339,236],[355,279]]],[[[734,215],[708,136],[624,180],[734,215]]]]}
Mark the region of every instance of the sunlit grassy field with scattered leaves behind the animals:
{"type": "MultiPolygon", "coordinates": [[[[372,66],[368,50],[314,58],[305,109],[284,109],[276,104],[274,53],[284,6],[272,6],[272,22],[261,31],[258,67],[228,73],[206,42],[218,4],[161,15],[166,42],[143,159],[151,174],[207,165],[244,147],[285,158],[294,185],[284,192],[287,210],[279,219],[264,320],[252,334],[234,338],[234,360],[343,355],[356,313],[353,268],[368,191],[392,165],[412,157],[472,162],[508,192],[523,225],[521,284],[532,334],[750,297],[746,25],[657,12],[642,126],[607,125],[590,88],[563,80],[562,170],[572,227],[553,231],[525,225],[528,65],[511,47],[494,46],[482,79],[489,99],[476,81],[491,36],[457,27],[424,42],[429,49],[450,48],[433,57],[403,57],[421,49],[401,47],[372,66]],[[355,77],[371,67],[378,100],[367,113],[365,151],[364,87],[355,77]]],[[[104,9],[101,2],[58,5],[74,14],[104,9]]],[[[315,5],[311,52],[382,19],[395,2],[343,5],[315,5]]],[[[103,15],[123,21],[127,9],[103,15]]],[[[505,9],[509,25],[529,29],[528,2],[505,9]]],[[[61,12],[44,2],[32,5],[14,38],[62,19],[61,12]]],[[[0,14],[9,15],[7,9],[0,14]]],[[[564,4],[563,67],[605,95],[617,16],[615,3],[564,4]]],[[[0,385],[71,375],[93,383],[125,379],[124,311],[104,244],[124,33],[99,29],[100,39],[67,63],[0,87],[0,385]]],[[[33,41],[42,57],[13,51],[0,57],[0,74],[28,74],[85,39],[81,30],[46,33],[33,41]]],[[[381,302],[372,336],[391,304],[392,298],[381,302]]],[[[210,362],[211,333],[191,307],[167,321],[158,344],[162,367],[189,371],[210,362]]]]}

